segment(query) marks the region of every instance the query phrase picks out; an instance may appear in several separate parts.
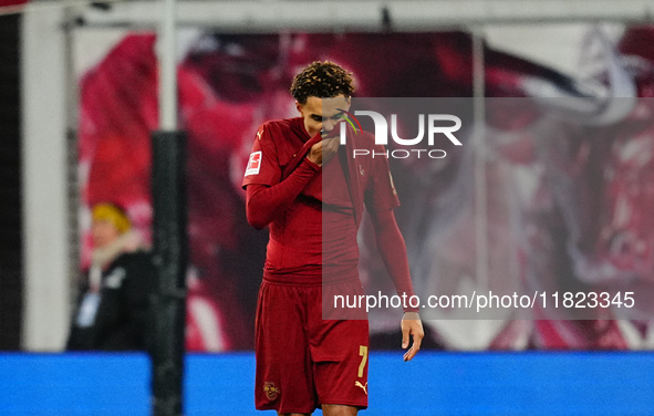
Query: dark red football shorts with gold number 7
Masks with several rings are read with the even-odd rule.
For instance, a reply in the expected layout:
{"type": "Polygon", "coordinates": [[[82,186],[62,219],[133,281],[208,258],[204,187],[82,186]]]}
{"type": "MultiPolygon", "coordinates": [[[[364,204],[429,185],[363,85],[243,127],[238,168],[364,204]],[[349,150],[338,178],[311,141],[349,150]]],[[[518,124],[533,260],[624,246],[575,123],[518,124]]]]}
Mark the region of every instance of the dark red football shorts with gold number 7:
{"type": "MultiPolygon", "coordinates": [[[[363,292],[359,279],[338,287],[325,290],[363,292]]],[[[367,407],[367,320],[323,320],[322,290],[261,283],[256,329],[258,409],[311,413],[322,404],[367,407]]]]}

